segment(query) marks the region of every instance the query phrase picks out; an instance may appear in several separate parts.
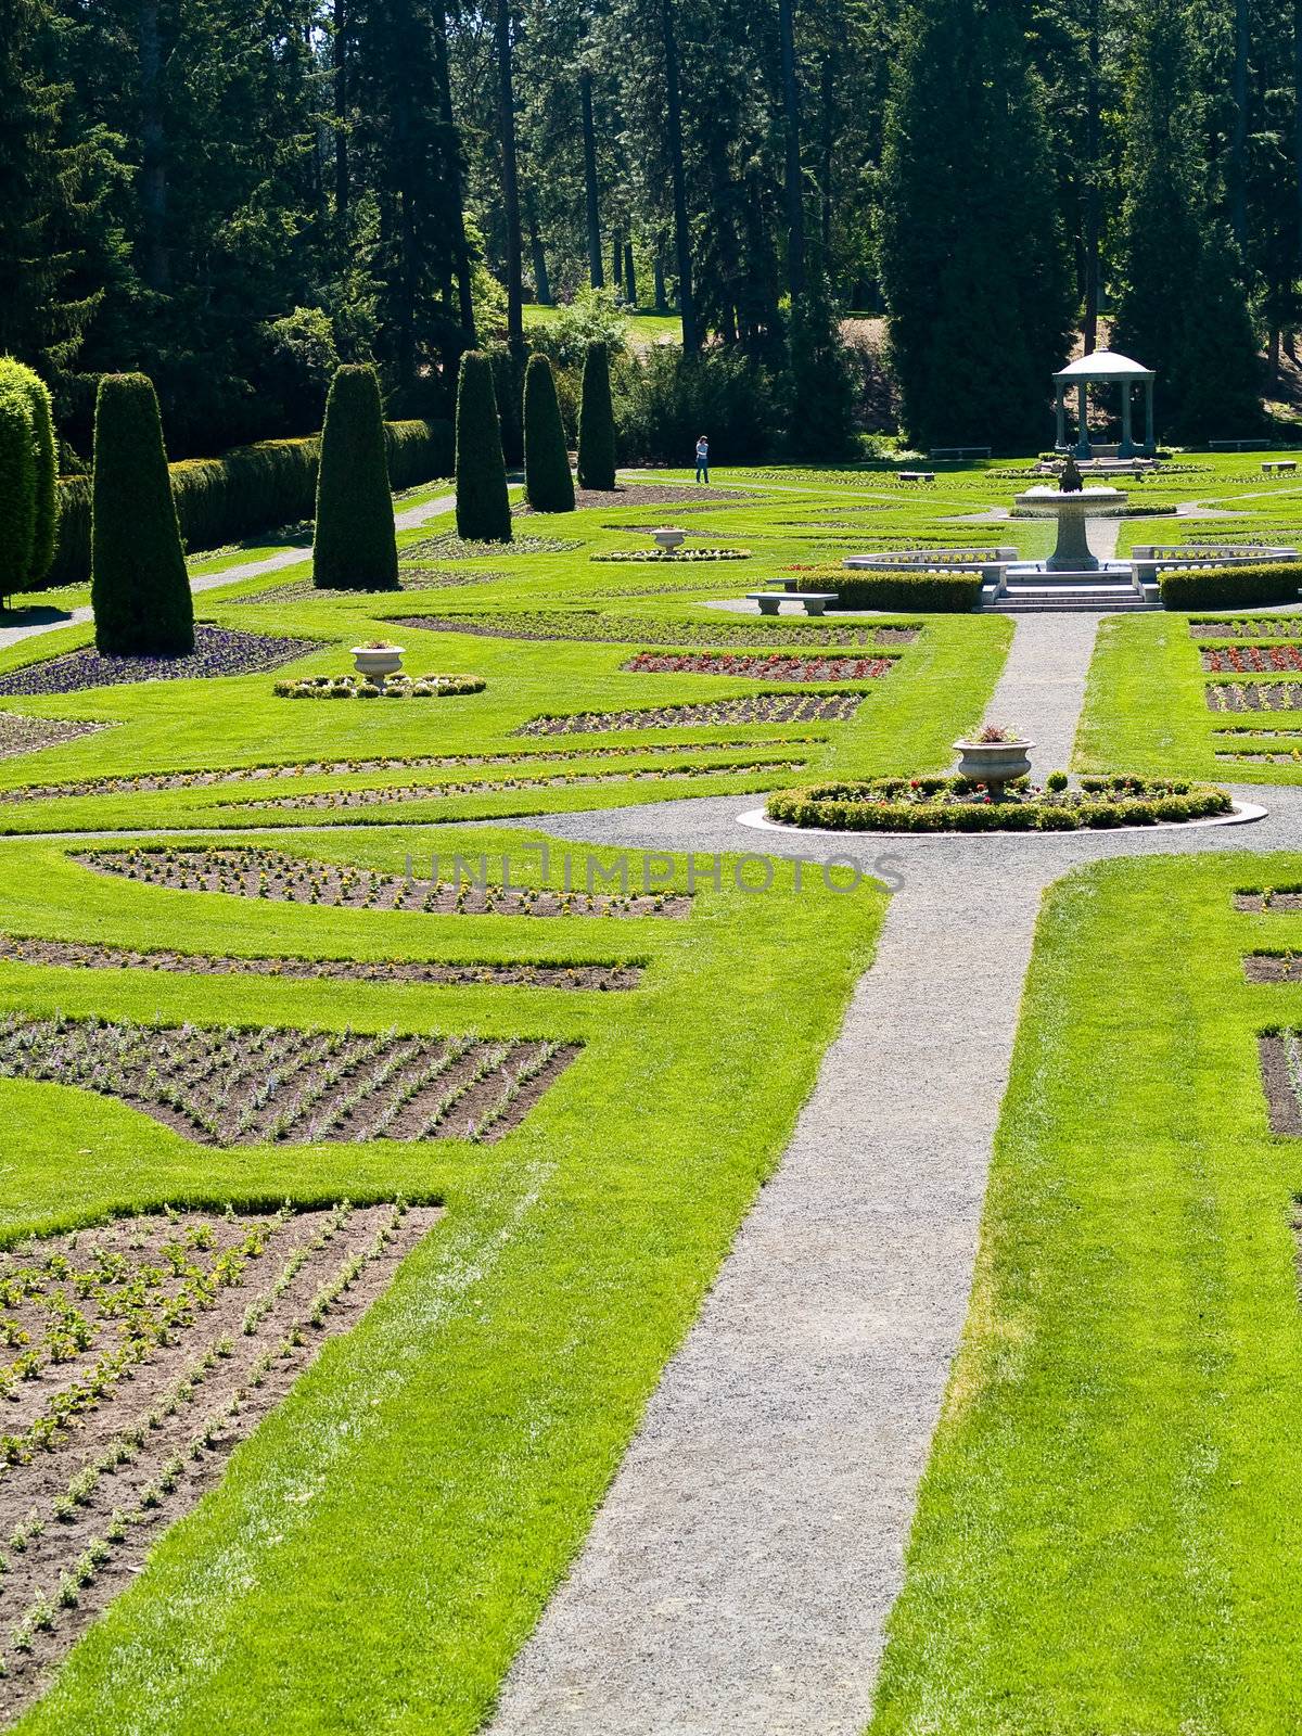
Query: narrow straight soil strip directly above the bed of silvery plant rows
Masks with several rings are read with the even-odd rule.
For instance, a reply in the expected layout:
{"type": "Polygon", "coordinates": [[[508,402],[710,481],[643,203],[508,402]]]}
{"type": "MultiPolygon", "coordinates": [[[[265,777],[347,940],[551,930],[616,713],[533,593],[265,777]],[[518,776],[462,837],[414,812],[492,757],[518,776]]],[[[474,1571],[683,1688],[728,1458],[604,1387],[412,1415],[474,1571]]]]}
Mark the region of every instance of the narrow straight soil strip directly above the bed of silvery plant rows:
{"type": "Polygon", "coordinates": [[[50,965],[78,970],[177,970],[186,976],[271,976],[286,981],[337,979],[345,983],[439,983],[439,984],[510,984],[517,988],[637,988],[641,965],[448,965],[436,958],[385,958],[382,963],[359,958],[238,958],[219,953],[175,953],[165,948],[139,951],[134,946],[109,946],[99,941],[40,941],[0,934],[0,960],[21,965],[50,965]]]}

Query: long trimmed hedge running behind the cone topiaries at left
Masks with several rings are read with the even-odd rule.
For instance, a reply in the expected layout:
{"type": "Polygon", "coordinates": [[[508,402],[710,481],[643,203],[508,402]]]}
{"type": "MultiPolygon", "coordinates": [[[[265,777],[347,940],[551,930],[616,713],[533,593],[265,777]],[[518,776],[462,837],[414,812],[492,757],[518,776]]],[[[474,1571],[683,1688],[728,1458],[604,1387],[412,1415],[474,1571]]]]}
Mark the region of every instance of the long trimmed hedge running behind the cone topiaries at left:
{"type": "MultiPolygon", "coordinates": [[[[384,443],[394,490],[451,476],[451,422],[385,422],[384,443]]],[[[309,434],[170,465],[186,547],[222,549],[276,524],[309,519],[319,457],[321,436],[309,434]]],[[[57,496],[59,549],[49,583],[73,585],[90,571],[90,477],[61,477],[57,496]]]]}

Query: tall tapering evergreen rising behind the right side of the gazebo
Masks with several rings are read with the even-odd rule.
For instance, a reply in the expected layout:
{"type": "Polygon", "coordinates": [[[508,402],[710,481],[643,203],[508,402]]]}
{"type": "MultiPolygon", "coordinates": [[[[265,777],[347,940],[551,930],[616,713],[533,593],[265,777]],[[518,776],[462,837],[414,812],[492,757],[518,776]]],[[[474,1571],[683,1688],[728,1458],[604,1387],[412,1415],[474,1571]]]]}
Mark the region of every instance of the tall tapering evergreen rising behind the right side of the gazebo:
{"type": "Polygon", "coordinates": [[[1144,0],[1127,104],[1125,205],[1113,345],[1158,375],[1175,439],[1252,432],[1257,344],[1231,241],[1200,160],[1189,26],[1179,0],[1144,0]]]}

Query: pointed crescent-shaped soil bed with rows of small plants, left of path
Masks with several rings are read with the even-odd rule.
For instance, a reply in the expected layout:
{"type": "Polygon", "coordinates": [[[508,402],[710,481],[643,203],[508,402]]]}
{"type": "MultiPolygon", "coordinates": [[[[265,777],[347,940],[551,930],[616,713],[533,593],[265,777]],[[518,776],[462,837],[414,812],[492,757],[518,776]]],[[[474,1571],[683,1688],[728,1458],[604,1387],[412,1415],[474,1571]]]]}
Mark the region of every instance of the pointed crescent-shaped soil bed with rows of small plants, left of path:
{"type": "Polygon", "coordinates": [[[691,898],[682,892],[608,894],[554,892],[531,887],[460,885],[420,880],[415,875],[370,873],[335,863],[259,849],[149,849],[87,851],[75,858],[95,873],[125,875],[144,885],[182,892],[229,892],[236,898],[285,899],[332,910],[410,910],[439,917],[687,917],[691,898]]]}

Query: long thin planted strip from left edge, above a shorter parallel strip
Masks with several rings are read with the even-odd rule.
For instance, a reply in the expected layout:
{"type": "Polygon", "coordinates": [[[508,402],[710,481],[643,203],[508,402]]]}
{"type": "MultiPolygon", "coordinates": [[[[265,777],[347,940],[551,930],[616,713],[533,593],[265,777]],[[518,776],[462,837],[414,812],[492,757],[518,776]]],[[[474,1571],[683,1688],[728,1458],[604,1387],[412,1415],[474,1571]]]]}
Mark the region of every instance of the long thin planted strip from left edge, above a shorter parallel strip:
{"type": "Polygon", "coordinates": [[[212,790],[226,785],[274,783],[293,778],[340,778],[377,771],[451,771],[458,766],[556,766],[571,759],[627,759],[630,753],[719,753],[726,748],[792,748],[823,736],[774,736],[760,741],[653,741],[648,746],[516,748],[509,753],[417,753],[410,759],[286,760],[281,766],[214,767],[210,771],[128,773],[123,778],[69,778],[66,783],[24,783],[0,790],[0,802],[47,802],[73,795],[156,795],[163,790],[212,790]]]}

